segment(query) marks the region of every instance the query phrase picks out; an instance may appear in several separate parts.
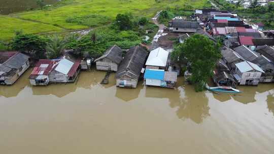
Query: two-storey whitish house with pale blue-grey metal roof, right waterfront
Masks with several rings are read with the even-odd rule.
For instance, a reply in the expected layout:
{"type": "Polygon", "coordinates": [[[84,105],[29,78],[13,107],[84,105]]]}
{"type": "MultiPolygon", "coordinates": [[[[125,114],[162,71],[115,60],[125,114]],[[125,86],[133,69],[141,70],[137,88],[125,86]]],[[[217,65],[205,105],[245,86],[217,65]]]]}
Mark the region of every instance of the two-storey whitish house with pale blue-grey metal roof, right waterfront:
{"type": "Polygon", "coordinates": [[[236,69],[234,71],[234,78],[237,80],[239,85],[258,85],[260,78],[264,71],[256,64],[243,61],[236,63],[236,69]]]}

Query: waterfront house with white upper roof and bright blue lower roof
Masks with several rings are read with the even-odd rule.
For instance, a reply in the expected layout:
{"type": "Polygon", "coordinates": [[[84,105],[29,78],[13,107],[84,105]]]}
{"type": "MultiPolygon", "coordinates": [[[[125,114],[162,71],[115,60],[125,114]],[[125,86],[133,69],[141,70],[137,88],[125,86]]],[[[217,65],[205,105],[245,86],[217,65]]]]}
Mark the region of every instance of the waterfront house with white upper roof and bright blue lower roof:
{"type": "Polygon", "coordinates": [[[152,50],[146,62],[145,85],[175,88],[178,73],[169,66],[169,61],[169,52],[160,47],[152,50]]]}

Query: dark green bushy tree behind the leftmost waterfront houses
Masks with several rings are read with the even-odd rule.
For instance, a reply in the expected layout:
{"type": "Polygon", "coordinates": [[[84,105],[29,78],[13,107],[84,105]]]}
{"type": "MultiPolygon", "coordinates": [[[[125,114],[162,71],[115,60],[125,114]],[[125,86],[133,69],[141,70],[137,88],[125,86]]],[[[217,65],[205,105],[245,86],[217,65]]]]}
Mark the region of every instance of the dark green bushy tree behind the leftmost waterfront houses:
{"type": "Polygon", "coordinates": [[[35,34],[16,33],[9,46],[12,50],[29,53],[33,58],[44,58],[47,39],[35,34]]]}

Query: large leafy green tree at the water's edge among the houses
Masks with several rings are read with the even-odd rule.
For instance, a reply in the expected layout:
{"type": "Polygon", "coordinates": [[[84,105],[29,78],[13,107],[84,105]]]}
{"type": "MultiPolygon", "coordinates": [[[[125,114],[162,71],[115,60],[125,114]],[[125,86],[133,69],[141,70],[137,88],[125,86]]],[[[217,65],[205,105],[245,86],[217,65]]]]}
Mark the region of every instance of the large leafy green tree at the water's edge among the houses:
{"type": "Polygon", "coordinates": [[[212,75],[216,61],[221,58],[220,44],[215,44],[203,35],[194,34],[172,53],[172,59],[175,61],[180,62],[184,57],[190,63],[190,82],[196,91],[202,91],[212,75]]]}

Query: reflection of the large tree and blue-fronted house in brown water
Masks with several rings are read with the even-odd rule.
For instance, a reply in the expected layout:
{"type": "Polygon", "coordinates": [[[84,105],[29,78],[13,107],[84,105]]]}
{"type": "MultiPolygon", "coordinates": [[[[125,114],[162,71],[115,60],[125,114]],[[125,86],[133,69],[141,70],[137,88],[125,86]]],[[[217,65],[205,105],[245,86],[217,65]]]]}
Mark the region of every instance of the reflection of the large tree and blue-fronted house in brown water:
{"type": "Polygon", "coordinates": [[[178,83],[176,90],[147,87],[146,97],[168,98],[169,106],[177,109],[176,114],[179,119],[202,123],[203,119],[210,116],[208,97],[204,92],[196,93],[193,87],[184,85],[183,78],[179,78],[178,83]]]}

